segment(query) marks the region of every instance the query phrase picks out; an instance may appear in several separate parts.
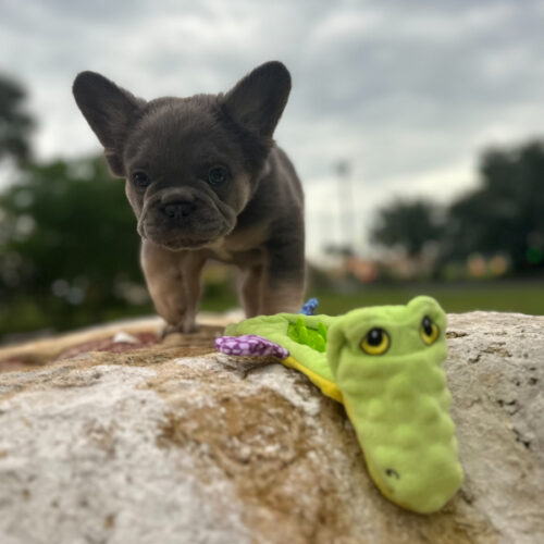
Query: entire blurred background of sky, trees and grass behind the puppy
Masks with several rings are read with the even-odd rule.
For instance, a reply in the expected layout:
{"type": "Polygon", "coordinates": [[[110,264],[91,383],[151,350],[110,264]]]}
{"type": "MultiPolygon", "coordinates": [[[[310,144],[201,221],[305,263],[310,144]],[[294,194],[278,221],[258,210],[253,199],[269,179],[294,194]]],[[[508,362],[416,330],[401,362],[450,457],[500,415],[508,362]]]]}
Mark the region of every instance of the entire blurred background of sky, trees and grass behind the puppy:
{"type": "MultiPolygon", "coordinates": [[[[539,0],[0,0],[0,342],[152,313],[76,73],[150,99],[271,59],[322,312],[543,314],[543,28],[539,0]]],[[[202,308],[235,307],[233,270],[205,275],[202,308]]]]}

